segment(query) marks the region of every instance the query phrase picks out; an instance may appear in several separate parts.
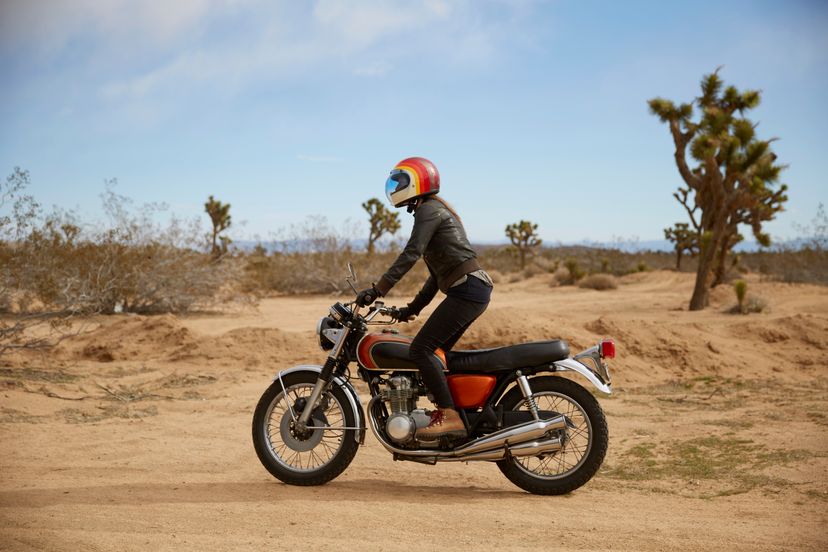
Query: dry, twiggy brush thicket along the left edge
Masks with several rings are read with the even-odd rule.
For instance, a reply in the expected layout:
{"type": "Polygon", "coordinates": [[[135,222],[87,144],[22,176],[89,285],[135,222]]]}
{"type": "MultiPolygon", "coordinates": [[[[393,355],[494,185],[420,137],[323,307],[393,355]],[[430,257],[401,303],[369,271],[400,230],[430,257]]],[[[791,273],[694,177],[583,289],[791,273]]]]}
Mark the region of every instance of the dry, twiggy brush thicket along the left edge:
{"type": "Polygon", "coordinates": [[[56,210],[37,214],[0,242],[0,289],[16,313],[161,313],[206,308],[236,296],[237,264],[203,252],[196,221],[156,222],[160,205],[135,207],[108,186],[108,222],[82,224],[56,210]]]}

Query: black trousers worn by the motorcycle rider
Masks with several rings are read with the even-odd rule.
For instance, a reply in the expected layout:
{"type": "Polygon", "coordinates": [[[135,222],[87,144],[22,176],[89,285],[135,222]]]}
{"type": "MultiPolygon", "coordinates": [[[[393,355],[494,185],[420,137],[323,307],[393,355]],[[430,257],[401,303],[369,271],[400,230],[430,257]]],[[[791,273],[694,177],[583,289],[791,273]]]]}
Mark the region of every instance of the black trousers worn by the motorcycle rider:
{"type": "Polygon", "coordinates": [[[411,360],[417,365],[423,383],[434,395],[438,408],[454,408],[454,401],[443,366],[434,356],[434,350],[450,351],[488,305],[488,301],[481,303],[449,295],[437,306],[411,343],[411,360]]]}

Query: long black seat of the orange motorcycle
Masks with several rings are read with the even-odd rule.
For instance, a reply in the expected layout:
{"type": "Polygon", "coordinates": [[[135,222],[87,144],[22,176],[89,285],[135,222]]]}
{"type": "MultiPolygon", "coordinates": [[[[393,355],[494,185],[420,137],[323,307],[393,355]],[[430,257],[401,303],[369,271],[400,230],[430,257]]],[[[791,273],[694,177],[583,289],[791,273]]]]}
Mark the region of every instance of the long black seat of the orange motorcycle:
{"type": "Polygon", "coordinates": [[[450,351],[446,354],[449,372],[502,372],[549,364],[569,357],[569,344],[535,341],[478,351],[450,351]]]}

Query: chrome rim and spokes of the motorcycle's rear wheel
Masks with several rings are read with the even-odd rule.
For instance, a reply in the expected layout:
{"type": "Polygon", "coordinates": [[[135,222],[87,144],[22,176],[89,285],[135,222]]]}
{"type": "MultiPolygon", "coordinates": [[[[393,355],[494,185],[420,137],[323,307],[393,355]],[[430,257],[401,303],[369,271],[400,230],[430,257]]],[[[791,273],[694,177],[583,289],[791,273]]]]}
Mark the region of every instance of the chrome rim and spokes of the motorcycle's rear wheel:
{"type": "MultiPolygon", "coordinates": [[[[538,409],[563,414],[571,425],[566,428],[566,439],[561,450],[541,456],[515,458],[513,462],[533,477],[562,479],[577,471],[592,450],[592,423],[583,407],[572,397],[541,391],[534,398],[538,409]]],[[[525,402],[519,410],[526,410],[525,402]]]]}

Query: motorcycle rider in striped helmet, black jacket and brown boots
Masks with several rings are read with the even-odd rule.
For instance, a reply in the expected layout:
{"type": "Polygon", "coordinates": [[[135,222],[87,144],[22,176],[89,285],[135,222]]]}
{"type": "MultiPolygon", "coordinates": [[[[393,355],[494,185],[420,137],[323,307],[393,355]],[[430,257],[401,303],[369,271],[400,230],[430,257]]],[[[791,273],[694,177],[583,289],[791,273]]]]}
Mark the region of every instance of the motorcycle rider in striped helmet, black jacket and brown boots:
{"type": "Polygon", "coordinates": [[[489,304],[492,280],[477,262],[477,253],[466,237],[460,217],[442,198],[440,173],[422,157],[403,159],[391,170],[385,183],[394,207],[406,206],[414,213],[414,228],[402,253],[391,268],[368,289],[357,295],[357,304],[368,306],[389,290],[422,256],[429,277],[420,292],[396,318],[413,319],[439,289],[446,298],[434,310],[411,343],[410,357],[434,397],[437,410],[428,426],[417,429],[420,440],[465,437],[466,427],[454,407],[443,365],[434,351],[449,351],[489,304]]]}

